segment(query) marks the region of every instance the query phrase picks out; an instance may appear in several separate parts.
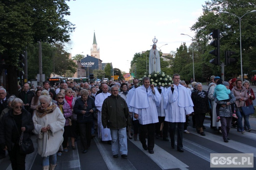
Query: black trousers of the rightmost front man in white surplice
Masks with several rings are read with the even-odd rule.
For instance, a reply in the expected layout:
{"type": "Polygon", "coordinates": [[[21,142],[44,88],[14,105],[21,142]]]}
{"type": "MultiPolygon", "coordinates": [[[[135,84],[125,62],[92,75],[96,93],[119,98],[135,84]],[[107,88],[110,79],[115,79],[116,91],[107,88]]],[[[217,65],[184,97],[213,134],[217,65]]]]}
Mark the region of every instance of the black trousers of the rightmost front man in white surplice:
{"type": "Polygon", "coordinates": [[[170,122],[170,138],[171,145],[175,144],[175,129],[177,124],[177,149],[183,148],[182,140],[183,140],[183,131],[184,131],[184,122],[170,122]]]}

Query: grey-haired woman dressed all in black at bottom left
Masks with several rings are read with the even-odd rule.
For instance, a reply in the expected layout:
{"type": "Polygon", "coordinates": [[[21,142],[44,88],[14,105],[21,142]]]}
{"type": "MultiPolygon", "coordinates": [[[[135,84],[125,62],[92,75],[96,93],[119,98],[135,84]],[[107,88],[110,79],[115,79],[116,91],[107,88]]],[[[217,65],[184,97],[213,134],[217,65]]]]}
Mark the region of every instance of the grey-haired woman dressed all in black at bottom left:
{"type": "Polygon", "coordinates": [[[31,114],[23,108],[23,101],[15,98],[12,109],[3,115],[0,123],[0,147],[8,150],[13,170],[25,170],[26,154],[19,151],[19,136],[23,132],[23,139],[28,140],[34,125],[31,114]]]}

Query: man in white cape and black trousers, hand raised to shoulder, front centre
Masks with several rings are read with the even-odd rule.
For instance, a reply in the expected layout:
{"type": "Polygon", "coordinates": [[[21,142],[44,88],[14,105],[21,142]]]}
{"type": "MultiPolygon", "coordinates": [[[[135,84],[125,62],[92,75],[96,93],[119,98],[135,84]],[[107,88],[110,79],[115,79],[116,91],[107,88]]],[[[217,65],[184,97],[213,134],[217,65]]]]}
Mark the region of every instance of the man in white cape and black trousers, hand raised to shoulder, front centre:
{"type": "Polygon", "coordinates": [[[142,147],[144,150],[148,150],[149,153],[153,154],[155,146],[155,123],[158,122],[156,106],[160,103],[161,95],[155,90],[153,84],[150,85],[150,79],[148,77],[144,77],[142,82],[143,86],[136,88],[129,105],[132,107],[132,112],[134,112],[134,118],[139,119],[140,122],[139,139],[142,147]]]}

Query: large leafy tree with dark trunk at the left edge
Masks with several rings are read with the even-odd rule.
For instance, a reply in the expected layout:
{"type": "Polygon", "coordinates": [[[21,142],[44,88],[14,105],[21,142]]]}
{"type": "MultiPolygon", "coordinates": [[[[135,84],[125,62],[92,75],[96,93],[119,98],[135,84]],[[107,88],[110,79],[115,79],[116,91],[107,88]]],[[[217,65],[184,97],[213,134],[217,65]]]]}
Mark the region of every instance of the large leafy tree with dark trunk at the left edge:
{"type": "Polygon", "coordinates": [[[66,20],[70,15],[65,0],[0,1],[0,55],[6,60],[9,93],[18,95],[18,56],[29,44],[70,40],[75,28],[66,20]]]}

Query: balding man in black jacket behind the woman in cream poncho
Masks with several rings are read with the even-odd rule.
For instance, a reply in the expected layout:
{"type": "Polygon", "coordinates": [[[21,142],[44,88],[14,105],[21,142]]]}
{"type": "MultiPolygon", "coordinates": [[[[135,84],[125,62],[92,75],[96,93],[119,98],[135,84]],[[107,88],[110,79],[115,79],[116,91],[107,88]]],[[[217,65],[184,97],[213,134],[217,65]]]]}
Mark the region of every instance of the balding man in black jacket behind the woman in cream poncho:
{"type": "Polygon", "coordinates": [[[33,91],[29,90],[29,84],[28,83],[25,83],[23,88],[24,88],[24,91],[20,92],[19,98],[23,101],[24,108],[27,111],[29,111],[32,98],[35,96],[35,94],[34,94],[33,91]]]}

